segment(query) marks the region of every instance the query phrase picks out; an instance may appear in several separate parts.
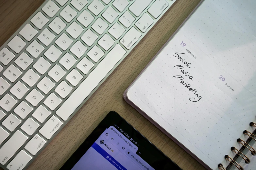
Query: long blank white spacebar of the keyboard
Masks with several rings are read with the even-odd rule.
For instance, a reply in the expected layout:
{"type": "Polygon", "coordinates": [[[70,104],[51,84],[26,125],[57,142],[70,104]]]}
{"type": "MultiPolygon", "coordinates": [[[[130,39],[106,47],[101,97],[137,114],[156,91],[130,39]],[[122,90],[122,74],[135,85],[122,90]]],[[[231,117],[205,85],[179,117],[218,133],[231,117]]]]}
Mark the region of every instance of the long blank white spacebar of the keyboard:
{"type": "Polygon", "coordinates": [[[125,55],[120,45],[115,47],[105,56],[105,58],[94,68],[94,70],[84,79],[70,97],[60,106],[56,114],[61,119],[67,120],[84,99],[94,90],[100,81],[110,72],[117,62],[125,55]]]}

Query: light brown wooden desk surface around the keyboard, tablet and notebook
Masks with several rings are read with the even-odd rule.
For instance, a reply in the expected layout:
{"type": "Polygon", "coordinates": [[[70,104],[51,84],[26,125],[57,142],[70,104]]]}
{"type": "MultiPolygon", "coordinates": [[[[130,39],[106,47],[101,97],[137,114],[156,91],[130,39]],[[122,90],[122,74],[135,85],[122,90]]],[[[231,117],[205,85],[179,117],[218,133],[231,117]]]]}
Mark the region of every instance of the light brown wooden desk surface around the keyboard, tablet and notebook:
{"type": "MultiPolygon", "coordinates": [[[[111,110],[119,113],[182,169],[205,169],[123,99],[123,92],[129,84],[199,1],[177,0],[28,169],[59,169],[111,110]]],[[[1,0],[0,46],[43,2],[44,0],[1,0]]]]}

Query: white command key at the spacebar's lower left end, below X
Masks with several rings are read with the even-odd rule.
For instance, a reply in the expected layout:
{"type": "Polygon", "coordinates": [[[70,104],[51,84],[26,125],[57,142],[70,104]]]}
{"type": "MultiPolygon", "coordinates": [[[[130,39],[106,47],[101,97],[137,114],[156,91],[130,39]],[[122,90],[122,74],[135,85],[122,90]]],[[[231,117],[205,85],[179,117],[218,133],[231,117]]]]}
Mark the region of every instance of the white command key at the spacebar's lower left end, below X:
{"type": "Polygon", "coordinates": [[[39,130],[39,133],[42,134],[46,139],[50,139],[58,131],[62,124],[62,121],[55,116],[52,116],[39,130]]]}

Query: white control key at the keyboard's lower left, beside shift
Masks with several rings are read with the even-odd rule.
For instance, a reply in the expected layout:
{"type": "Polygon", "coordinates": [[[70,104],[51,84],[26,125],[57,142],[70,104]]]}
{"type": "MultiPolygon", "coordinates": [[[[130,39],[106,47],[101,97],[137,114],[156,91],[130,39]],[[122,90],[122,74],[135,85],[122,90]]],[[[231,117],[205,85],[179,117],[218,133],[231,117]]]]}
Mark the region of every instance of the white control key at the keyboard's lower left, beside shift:
{"type": "Polygon", "coordinates": [[[7,165],[9,170],[22,170],[32,159],[24,150],[21,150],[7,165]]]}

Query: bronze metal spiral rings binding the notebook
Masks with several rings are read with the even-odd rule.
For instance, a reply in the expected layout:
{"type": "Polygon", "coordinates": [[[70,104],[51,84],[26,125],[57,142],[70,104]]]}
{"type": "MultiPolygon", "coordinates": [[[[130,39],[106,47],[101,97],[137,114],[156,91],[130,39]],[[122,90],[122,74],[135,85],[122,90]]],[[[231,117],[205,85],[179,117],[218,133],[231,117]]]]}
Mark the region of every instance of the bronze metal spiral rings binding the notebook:
{"type": "MultiPolygon", "coordinates": [[[[250,126],[251,126],[251,127],[256,127],[256,123],[251,122],[251,123],[250,123],[250,126]]],[[[252,134],[251,132],[245,130],[245,131],[244,131],[244,135],[249,136],[248,139],[253,139],[253,140],[256,141],[256,139],[254,138],[254,137],[256,137],[256,135],[252,134]]],[[[246,141],[244,141],[244,140],[242,140],[242,139],[239,138],[239,139],[237,139],[237,142],[240,143],[241,145],[243,145],[245,148],[247,148],[247,149],[251,152],[252,155],[256,155],[255,149],[253,149],[246,141]]],[[[247,164],[250,163],[250,159],[249,159],[244,153],[242,153],[240,150],[236,149],[235,147],[232,147],[231,150],[232,150],[234,153],[236,153],[236,155],[238,155],[238,156],[240,156],[241,158],[243,158],[247,164]]],[[[239,163],[237,163],[237,162],[234,160],[234,158],[233,158],[233,159],[230,158],[229,155],[226,155],[224,158],[225,158],[227,161],[229,161],[231,164],[233,164],[235,167],[237,167],[239,170],[244,170],[244,168],[243,168],[239,163]]],[[[226,169],[226,168],[223,167],[223,164],[222,164],[222,163],[219,163],[219,164],[218,164],[218,168],[219,168],[220,170],[228,170],[228,168],[226,169]]]]}

